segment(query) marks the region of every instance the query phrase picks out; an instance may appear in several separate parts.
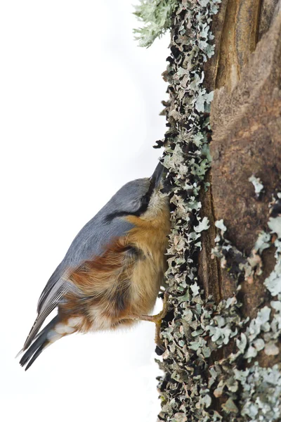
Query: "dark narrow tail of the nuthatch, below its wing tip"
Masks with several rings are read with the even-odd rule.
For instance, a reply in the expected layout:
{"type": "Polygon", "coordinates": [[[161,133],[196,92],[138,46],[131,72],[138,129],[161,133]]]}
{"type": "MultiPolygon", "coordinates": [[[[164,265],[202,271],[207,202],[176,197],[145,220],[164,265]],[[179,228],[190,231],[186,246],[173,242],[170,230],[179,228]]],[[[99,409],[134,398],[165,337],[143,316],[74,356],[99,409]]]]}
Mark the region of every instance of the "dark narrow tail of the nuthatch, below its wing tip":
{"type": "MultiPolygon", "coordinates": [[[[20,359],[20,365],[25,366],[25,371],[33,364],[34,360],[39,357],[39,354],[43,352],[48,345],[55,342],[62,337],[62,335],[58,335],[53,329],[55,325],[58,323],[58,315],[55,316],[47,325],[40,331],[39,334],[34,339],[34,342],[30,347],[27,348],[27,351],[20,359]]],[[[23,350],[22,350],[23,351],[23,350]]]]}

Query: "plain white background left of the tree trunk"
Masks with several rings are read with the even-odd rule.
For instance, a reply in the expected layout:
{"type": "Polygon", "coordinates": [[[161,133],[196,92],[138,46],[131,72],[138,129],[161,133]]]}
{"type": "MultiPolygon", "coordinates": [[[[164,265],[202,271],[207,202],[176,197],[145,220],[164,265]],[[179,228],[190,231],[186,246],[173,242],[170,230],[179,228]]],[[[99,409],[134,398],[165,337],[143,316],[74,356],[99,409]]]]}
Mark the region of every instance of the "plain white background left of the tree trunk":
{"type": "Polygon", "coordinates": [[[27,372],[15,360],[77,231],[161,154],[169,37],[138,47],[132,2],[1,1],[1,421],[152,422],[159,411],[150,323],[70,335],[27,372]]]}

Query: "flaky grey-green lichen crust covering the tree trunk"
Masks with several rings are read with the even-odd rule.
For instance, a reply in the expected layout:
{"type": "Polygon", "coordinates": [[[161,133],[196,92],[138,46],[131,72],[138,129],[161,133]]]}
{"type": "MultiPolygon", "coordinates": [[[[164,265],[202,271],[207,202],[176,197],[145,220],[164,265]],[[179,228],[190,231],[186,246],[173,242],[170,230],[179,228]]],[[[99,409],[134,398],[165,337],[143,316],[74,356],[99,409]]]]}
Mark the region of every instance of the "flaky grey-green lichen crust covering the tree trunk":
{"type": "MultiPolygon", "coordinates": [[[[264,356],[279,354],[280,194],[270,203],[268,228],[263,227],[256,238],[260,229],[251,233],[254,241],[248,255],[228,239],[227,219],[215,223],[217,236],[212,255],[221,271],[227,271],[234,281],[230,298],[215,302],[207,297],[198,274],[202,236],[214,229],[202,209],[202,193],[211,181],[205,176],[211,166],[209,111],[213,98],[204,87],[204,63],[214,53],[210,25],[219,3],[151,0],[141,1],[142,11],[139,10],[145,23],[143,45],[150,45],[157,34],[171,27],[171,54],[164,72],[169,82],[169,101],[164,103],[168,131],[163,141],[157,141],[158,147],[165,148],[162,161],[169,170],[166,188],[172,209],[166,271],[171,312],[162,324],[166,350],[158,361],[164,370],[158,385],[162,401],[158,421],[165,422],[271,422],[281,416],[280,365],[262,365],[264,356]],[[165,15],[163,7],[168,4],[165,15]],[[157,8],[158,16],[164,20],[158,20],[155,27],[157,8]],[[263,268],[263,256],[273,248],[275,267],[268,274],[263,268]],[[266,298],[255,317],[249,319],[243,314],[242,286],[254,286],[257,280],[266,298]]],[[[216,122],[217,127],[219,123],[216,122]]],[[[217,162],[219,154],[217,151],[214,157],[217,162]]],[[[250,174],[247,183],[256,194],[251,198],[254,202],[260,200],[268,184],[256,176],[249,177],[250,174]]],[[[240,207],[241,204],[242,201],[240,207]]]]}

